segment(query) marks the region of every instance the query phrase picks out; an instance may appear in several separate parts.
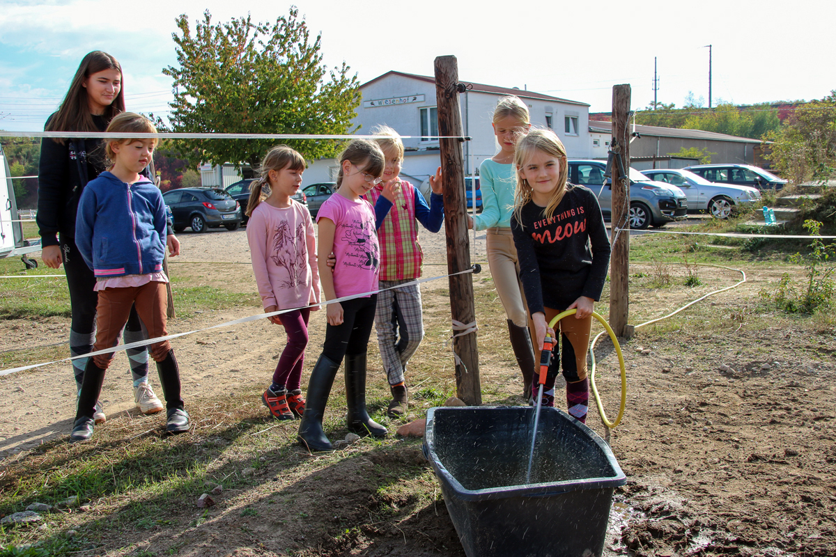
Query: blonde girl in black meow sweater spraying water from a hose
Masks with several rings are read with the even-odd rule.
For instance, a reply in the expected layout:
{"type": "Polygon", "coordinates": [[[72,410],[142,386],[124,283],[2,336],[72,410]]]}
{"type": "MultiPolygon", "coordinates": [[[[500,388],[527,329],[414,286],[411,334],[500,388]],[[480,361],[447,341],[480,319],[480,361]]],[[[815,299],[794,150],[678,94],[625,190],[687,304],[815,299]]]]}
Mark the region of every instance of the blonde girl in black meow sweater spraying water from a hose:
{"type": "MultiPolygon", "coordinates": [[[[537,334],[536,362],[548,322],[558,313],[578,310],[556,327],[561,333],[561,357],[555,358],[549,369],[541,403],[554,406],[554,380],[562,363],[568,412],[585,423],[589,403],[586,352],[592,311],[609,268],[604,218],[592,191],[568,183],[566,149],[551,129],[533,129],[520,139],[514,164],[517,192],[511,230],[537,334]]],[[[537,397],[537,382],[532,390],[537,397]]]]}

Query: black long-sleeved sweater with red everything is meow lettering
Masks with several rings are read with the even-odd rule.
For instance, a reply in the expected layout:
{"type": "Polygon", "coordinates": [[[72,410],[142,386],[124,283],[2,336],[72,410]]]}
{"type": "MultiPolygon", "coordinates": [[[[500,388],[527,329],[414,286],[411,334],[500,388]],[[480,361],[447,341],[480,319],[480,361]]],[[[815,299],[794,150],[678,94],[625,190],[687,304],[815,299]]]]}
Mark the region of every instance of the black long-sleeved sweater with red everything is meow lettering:
{"type": "Polygon", "coordinates": [[[601,298],[609,269],[609,238],[598,199],[582,185],[567,185],[551,218],[533,201],[522,222],[511,217],[528,311],[563,311],[580,296],[601,298]]]}

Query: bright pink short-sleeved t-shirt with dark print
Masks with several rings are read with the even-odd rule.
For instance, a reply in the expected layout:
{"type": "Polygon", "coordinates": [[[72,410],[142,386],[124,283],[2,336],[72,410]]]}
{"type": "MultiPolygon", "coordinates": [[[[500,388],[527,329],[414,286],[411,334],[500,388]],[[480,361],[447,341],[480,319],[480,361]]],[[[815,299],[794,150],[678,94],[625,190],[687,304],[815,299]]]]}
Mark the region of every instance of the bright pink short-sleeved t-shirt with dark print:
{"type": "MultiPolygon", "coordinates": [[[[335,193],[319,208],[316,221],[334,221],[334,293],[338,298],[377,290],[380,246],[375,210],[364,199],[349,200],[335,193]]],[[[366,296],[368,297],[368,296],[366,296]]]]}

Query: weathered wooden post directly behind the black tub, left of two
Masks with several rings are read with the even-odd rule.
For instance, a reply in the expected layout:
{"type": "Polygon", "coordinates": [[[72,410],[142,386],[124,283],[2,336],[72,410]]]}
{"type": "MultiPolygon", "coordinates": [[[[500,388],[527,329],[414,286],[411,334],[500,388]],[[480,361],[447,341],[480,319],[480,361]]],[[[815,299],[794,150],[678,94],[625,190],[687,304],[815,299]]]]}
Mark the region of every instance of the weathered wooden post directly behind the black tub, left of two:
{"type": "MultiPolygon", "coordinates": [[[[462,154],[459,70],[455,56],[436,58],[436,104],[438,105],[438,134],[441,147],[441,171],[444,173],[444,225],[447,235],[447,273],[452,275],[471,268],[470,242],[467,239],[467,209],[462,154]]],[[[472,274],[450,277],[450,309],[453,322],[464,325],[476,323],[473,304],[472,274]]],[[[454,328],[454,333],[456,330],[454,328]]],[[[455,337],[453,350],[456,360],[456,391],[470,406],[482,404],[482,385],[479,382],[479,352],[476,330],[455,337]]]]}

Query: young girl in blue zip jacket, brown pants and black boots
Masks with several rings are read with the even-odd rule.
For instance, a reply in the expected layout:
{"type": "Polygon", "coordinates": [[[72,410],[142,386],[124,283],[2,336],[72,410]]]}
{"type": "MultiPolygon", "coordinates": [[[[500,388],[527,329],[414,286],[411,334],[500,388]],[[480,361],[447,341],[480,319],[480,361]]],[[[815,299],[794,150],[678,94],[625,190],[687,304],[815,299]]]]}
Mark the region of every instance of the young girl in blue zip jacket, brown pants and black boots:
{"type": "MultiPolygon", "coordinates": [[[[154,124],[125,112],[111,120],[108,132],[156,133],[154,124]]],[[[156,139],[110,139],[109,171],[89,182],[79,200],[75,243],[96,277],[94,351],[114,347],[131,306],[136,307],[150,338],[166,337],[166,205],[157,187],[140,173],[150,164],[156,139]]],[[[185,433],[189,415],[180,396],[180,372],[168,341],[150,345],[166,397],[166,431],[185,433]]],[[[79,408],[70,442],[93,436],[95,403],[112,353],[91,357],[84,369],[79,408]]]]}

